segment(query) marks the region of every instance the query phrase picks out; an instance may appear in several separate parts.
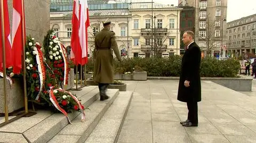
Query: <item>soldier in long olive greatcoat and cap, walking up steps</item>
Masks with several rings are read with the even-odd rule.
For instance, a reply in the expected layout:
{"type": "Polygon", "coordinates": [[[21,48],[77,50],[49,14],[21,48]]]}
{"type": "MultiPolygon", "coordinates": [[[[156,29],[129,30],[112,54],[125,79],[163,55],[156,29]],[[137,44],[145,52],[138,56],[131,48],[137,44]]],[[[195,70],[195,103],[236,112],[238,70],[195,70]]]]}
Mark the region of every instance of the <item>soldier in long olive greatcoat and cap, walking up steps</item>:
{"type": "Polygon", "coordinates": [[[100,90],[100,100],[106,100],[107,87],[114,82],[114,57],[113,51],[119,61],[121,61],[120,51],[118,49],[115,32],[110,31],[111,22],[103,22],[103,29],[95,35],[94,58],[94,82],[98,83],[100,90]],[[113,51],[112,51],[113,49],[113,51]]]}

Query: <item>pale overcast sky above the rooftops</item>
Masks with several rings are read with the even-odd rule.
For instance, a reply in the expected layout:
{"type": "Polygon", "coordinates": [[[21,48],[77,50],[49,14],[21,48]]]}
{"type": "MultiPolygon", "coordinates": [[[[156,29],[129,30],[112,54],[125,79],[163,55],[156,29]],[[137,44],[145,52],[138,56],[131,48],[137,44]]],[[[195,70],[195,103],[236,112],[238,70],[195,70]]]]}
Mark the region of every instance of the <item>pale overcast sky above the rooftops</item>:
{"type": "MultiPolygon", "coordinates": [[[[150,0],[137,1],[151,2],[150,0]]],[[[153,0],[153,2],[178,6],[178,0],[153,0]]],[[[256,14],[256,0],[228,0],[227,22],[252,14],[256,14]]]]}

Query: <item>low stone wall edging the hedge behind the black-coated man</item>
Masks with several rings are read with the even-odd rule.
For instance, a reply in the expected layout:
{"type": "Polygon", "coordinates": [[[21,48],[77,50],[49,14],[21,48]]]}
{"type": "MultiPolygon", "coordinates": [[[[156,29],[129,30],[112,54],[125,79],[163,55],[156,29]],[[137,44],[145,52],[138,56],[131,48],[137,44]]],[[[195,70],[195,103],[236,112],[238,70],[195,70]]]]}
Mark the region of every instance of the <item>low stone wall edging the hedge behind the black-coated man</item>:
{"type": "MultiPolygon", "coordinates": [[[[179,77],[147,77],[148,79],[166,79],[166,80],[179,80],[179,77]]],[[[251,78],[211,78],[202,77],[202,80],[209,80],[221,86],[236,90],[236,91],[252,91],[251,78]]]]}

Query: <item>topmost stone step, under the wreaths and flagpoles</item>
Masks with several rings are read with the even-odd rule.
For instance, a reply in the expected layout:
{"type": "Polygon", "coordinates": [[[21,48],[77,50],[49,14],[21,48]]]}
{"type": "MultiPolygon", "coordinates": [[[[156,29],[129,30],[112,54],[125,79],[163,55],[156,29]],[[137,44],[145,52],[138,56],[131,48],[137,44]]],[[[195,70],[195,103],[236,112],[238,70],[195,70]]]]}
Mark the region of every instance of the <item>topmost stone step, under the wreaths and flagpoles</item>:
{"type": "MultiPolygon", "coordinates": [[[[95,100],[99,98],[99,89],[97,86],[84,87],[80,91],[71,91],[81,99],[84,107],[90,106],[95,100]]],[[[79,112],[68,113],[69,119],[73,120],[79,115],[79,112]]],[[[0,132],[5,132],[6,136],[10,134],[20,134],[17,138],[12,140],[5,139],[3,142],[16,142],[23,137],[27,142],[47,142],[55,136],[61,129],[69,124],[67,117],[61,113],[52,113],[50,111],[37,111],[37,114],[31,117],[21,117],[17,121],[9,123],[0,128],[0,132]]],[[[19,141],[18,141],[19,142],[19,141]]]]}

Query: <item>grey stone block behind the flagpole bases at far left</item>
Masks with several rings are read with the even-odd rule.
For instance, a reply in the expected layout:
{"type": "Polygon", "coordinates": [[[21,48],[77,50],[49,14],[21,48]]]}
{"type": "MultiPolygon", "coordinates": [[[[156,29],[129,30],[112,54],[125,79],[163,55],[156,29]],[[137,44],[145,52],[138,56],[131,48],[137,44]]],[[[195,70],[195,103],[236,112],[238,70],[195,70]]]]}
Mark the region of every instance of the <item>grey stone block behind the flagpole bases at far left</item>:
{"type": "MultiPolygon", "coordinates": [[[[8,113],[24,107],[24,87],[23,80],[13,79],[12,88],[9,80],[6,79],[6,90],[8,100],[8,113]]],[[[3,79],[0,79],[0,113],[4,113],[4,85],[3,79]]]]}

